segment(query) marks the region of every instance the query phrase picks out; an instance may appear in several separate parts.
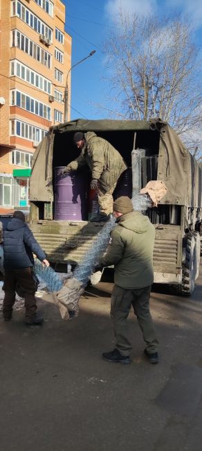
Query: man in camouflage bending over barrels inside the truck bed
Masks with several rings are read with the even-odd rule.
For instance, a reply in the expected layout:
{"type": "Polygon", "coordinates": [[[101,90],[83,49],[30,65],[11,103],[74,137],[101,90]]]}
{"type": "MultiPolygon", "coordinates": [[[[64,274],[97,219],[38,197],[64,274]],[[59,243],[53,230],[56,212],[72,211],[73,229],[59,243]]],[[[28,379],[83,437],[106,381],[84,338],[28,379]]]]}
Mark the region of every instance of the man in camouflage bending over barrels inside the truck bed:
{"type": "Polygon", "coordinates": [[[127,165],[116,148],[94,132],[77,132],[73,136],[73,142],[82,152],[62,172],[76,171],[84,164],[89,166],[92,173],[91,189],[98,190],[100,207],[98,220],[104,221],[108,214],[112,213],[112,194],[118,178],[127,169],[127,165]]]}

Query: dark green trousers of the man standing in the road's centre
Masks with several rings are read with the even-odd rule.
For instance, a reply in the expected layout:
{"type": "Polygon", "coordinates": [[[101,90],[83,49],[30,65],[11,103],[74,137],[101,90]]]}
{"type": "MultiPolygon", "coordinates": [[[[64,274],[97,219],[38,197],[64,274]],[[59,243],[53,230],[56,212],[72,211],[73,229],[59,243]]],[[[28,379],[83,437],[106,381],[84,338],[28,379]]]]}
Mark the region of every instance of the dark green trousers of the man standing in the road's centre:
{"type": "Polygon", "coordinates": [[[151,286],[138,289],[123,289],[114,285],[111,295],[111,319],[116,337],[116,348],[122,355],[129,355],[131,343],[128,337],[127,317],[131,306],[137,317],[138,325],[143,332],[143,339],[146,343],[147,351],[156,352],[158,339],[149,312],[149,297],[151,286]]]}

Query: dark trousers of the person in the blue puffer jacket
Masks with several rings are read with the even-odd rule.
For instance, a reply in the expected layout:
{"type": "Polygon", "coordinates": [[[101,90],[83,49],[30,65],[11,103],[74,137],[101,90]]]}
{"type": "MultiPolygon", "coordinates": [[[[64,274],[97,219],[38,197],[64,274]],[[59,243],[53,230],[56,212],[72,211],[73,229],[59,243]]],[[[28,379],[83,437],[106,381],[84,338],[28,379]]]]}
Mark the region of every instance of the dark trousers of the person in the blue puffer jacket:
{"type": "Polygon", "coordinates": [[[3,317],[10,318],[12,315],[17,283],[24,291],[26,319],[33,319],[36,314],[37,305],[35,300],[36,285],[33,279],[32,268],[13,269],[12,271],[5,270],[3,282],[3,291],[5,292],[3,299],[3,317]]]}

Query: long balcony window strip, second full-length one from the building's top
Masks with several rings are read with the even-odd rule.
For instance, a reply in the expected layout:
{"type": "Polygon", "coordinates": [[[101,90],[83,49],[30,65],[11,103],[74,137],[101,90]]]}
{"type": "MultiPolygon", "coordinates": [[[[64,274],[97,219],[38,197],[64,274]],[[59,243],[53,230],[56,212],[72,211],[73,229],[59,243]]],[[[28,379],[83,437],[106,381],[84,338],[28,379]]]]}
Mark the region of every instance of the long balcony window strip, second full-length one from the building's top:
{"type": "Polygon", "coordinates": [[[22,33],[17,30],[12,30],[12,46],[17,46],[22,51],[28,53],[28,55],[33,56],[35,60],[38,60],[50,69],[51,66],[51,56],[46,50],[42,49],[35,42],[30,41],[28,37],[25,37],[22,33]]]}

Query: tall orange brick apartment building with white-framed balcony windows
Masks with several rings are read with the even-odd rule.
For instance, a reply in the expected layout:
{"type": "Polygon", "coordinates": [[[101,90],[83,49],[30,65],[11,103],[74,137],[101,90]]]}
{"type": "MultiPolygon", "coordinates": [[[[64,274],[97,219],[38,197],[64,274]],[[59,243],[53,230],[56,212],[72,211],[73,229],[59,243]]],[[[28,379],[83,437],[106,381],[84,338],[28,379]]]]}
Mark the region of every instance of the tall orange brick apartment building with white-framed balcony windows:
{"type": "Polygon", "coordinates": [[[28,207],[35,148],[64,121],[64,24],[61,0],[0,0],[0,210],[28,207]]]}

